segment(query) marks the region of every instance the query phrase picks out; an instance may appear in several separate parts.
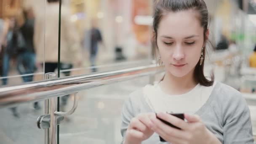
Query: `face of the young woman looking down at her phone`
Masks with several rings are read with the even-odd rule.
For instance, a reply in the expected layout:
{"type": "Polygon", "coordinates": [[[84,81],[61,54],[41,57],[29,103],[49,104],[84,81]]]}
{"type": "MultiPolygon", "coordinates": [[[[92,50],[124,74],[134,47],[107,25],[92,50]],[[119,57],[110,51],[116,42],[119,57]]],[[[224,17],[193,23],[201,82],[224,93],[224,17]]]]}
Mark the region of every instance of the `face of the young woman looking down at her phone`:
{"type": "Polygon", "coordinates": [[[203,27],[193,10],[170,12],[161,19],[157,45],[165,69],[175,77],[194,72],[204,43],[203,27]]]}

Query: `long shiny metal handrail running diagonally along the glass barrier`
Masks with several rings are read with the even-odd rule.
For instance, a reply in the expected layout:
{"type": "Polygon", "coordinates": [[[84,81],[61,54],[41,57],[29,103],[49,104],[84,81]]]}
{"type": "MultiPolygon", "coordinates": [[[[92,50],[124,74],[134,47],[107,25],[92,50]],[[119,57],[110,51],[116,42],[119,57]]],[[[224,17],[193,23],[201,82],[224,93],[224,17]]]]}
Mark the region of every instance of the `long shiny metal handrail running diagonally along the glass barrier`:
{"type": "Polygon", "coordinates": [[[90,75],[63,77],[0,88],[0,108],[77,93],[88,88],[163,72],[156,64],[90,75]]]}

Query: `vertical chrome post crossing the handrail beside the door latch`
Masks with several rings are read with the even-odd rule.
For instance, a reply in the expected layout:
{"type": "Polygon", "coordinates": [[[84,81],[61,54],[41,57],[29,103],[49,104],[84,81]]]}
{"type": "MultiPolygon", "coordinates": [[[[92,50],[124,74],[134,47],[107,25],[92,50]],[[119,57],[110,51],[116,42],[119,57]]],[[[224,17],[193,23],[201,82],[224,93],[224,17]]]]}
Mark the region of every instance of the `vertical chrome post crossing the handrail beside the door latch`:
{"type": "MultiPolygon", "coordinates": [[[[54,73],[54,72],[49,72],[49,73],[47,73],[47,74],[45,74],[45,79],[47,79],[47,80],[49,80],[49,79],[53,79],[53,78],[56,78],[57,77],[57,75],[56,75],[56,73],[54,73]]],[[[52,122],[53,122],[53,120],[55,120],[55,118],[53,118],[52,119],[52,113],[53,113],[53,115],[54,115],[54,112],[55,112],[55,110],[56,110],[56,101],[54,101],[54,99],[55,98],[51,98],[51,125],[52,125],[52,122]],[[52,100],[53,99],[53,100],[52,100]]],[[[45,115],[48,115],[49,114],[49,99],[46,99],[45,100],[45,115]]],[[[54,117],[54,116],[53,116],[54,117]]],[[[55,120],[56,121],[56,120],[55,120]]],[[[50,125],[50,129],[51,128],[53,128],[54,126],[51,126],[50,125]]],[[[56,127],[56,125],[55,125],[55,127],[56,127]]],[[[51,138],[52,138],[52,136],[51,137],[49,137],[49,135],[51,134],[51,135],[53,135],[52,134],[52,129],[51,129],[51,133],[50,133],[50,131],[49,131],[49,128],[46,128],[45,129],[45,144],[50,144],[50,142],[51,142],[51,138]]],[[[56,134],[55,134],[56,135],[56,134]]],[[[52,144],[52,143],[51,143],[52,144]]]]}

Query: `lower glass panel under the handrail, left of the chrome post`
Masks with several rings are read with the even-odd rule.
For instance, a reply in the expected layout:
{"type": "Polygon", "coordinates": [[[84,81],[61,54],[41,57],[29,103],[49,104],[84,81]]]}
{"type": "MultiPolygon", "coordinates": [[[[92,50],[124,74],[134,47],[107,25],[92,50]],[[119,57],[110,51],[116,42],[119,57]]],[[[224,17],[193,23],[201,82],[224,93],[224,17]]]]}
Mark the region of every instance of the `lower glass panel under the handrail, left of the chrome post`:
{"type": "Polygon", "coordinates": [[[44,115],[43,109],[34,109],[31,103],[16,109],[16,113],[11,108],[0,109],[0,143],[44,144],[44,130],[36,125],[37,117],[44,115]]]}

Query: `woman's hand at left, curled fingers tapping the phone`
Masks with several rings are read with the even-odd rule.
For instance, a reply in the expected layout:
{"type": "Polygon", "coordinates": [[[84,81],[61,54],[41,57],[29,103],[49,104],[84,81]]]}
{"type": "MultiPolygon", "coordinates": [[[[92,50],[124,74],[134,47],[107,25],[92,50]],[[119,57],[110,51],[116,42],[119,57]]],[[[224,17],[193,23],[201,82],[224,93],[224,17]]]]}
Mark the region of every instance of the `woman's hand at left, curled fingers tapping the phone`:
{"type": "Polygon", "coordinates": [[[141,144],[142,141],[152,136],[154,131],[150,128],[152,123],[149,117],[154,115],[154,113],[140,114],[137,117],[134,117],[126,131],[124,144],[141,144]]]}

